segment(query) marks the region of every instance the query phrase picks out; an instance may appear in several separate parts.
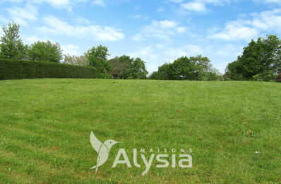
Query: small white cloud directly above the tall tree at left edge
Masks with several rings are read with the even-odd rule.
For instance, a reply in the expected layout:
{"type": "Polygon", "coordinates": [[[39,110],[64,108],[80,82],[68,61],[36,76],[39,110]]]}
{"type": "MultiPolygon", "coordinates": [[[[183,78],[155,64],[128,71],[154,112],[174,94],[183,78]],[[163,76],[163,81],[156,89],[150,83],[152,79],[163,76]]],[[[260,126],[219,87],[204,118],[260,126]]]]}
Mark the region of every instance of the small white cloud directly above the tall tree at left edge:
{"type": "Polygon", "coordinates": [[[20,25],[28,25],[28,21],[36,21],[38,16],[37,8],[30,5],[25,6],[25,8],[7,8],[7,11],[11,19],[20,25]]]}

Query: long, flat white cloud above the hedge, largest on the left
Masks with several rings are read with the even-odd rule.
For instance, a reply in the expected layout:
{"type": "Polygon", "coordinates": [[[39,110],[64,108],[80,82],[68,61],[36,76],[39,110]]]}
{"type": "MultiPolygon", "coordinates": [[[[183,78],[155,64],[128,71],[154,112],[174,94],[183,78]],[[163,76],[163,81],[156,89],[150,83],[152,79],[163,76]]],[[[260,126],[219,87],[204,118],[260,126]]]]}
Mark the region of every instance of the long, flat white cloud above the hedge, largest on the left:
{"type": "Polygon", "coordinates": [[[55,35],[75,36],[76,38],[90,38],[93,40],[117,41],[124,38],[124,33],[109,26],[100,25],[69,25],[54,16],[43,18],[45,26],[38,28],[41,33],[50,33],[55,35]]]}

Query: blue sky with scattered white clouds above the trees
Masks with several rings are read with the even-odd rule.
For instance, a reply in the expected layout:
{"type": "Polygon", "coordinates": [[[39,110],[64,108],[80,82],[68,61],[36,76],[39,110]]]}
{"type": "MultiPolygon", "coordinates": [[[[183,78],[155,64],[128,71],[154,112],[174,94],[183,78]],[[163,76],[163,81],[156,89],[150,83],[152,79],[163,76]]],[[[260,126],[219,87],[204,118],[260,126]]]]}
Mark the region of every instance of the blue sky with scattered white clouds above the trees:
{"type": "Polygon", "coordinates": [[[0,24],[11,21],[25,44],[59,42],[64,54],[101,44],[150,73],[201,54],[224,72],[252,39],[280,37],[281,0],[0,0],[0,24]]]}

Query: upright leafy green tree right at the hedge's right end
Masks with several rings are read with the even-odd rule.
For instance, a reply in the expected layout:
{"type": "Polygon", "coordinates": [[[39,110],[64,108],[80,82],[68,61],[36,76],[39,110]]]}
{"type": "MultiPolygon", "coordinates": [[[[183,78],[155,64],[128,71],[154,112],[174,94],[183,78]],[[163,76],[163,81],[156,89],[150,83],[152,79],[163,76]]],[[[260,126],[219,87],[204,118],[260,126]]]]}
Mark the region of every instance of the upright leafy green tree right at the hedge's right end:
{"type": "Polygon", "coordinates": [[[109,78],[109,72],[112,71],[109,61],[107,60],[108,49],[105,46],[98,45],[97,47],[92,47],[86,53],[89,64],[97,69],[97,78],[109,78]]]}

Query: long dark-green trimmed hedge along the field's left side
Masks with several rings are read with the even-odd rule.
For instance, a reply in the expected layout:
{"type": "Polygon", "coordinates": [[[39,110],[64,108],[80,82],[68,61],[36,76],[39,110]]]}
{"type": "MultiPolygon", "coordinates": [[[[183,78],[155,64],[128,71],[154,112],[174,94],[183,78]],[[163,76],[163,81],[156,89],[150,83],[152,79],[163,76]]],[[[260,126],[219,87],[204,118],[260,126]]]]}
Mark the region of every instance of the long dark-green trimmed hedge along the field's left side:
{"type": "Polygon", "coordinates": [[[37,78],[93,79],[96,76],[97,70],[94,67],[0,58],[0,80],[37,78]]]}

